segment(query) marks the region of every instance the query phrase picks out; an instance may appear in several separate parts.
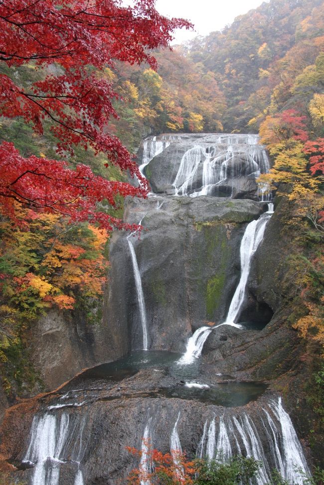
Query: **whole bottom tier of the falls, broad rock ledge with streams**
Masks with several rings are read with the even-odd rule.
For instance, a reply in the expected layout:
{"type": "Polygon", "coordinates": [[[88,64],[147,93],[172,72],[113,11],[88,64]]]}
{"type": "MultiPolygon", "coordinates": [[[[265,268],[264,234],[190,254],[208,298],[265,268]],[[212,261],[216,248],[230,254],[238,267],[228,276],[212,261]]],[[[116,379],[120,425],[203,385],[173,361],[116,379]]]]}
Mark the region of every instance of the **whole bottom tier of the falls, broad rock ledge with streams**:
{"type": "Polygon", "coordinates": [[[139,466],[126,447],[141,449],[150,436],[163,453],[177,443],[189,457],[254,456],[263,462],[258,485],[272,468],[301,483],[296,468],[308,467],[281,398],[261,384],[208,374],[206,366],[181,382],[177,358],[137,353],[17,405],[6,417],[1,448],[20,469],[15,477],[30,485],[125,483],[139,466]],[[244,396],[248,404],[241,405],[244,396]]]}

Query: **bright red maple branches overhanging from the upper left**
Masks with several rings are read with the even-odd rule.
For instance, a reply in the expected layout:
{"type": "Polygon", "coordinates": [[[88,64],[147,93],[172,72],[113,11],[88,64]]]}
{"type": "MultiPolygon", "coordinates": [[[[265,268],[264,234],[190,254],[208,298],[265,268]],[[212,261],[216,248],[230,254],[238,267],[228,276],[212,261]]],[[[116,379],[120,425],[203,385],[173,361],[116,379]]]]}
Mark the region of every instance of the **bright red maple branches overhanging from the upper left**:
{"type": "MultiPolygon", "coordinates": [[[[33,62],[48,74],[23,88],[0,74],[0,114],[22,117],[42,134],[52,121],[60,153],[75,145],[107,155],[136,176],[140,186],[96,177],[80,165],[70,170],[65,162],[31,156],[23,158],[11,143],[0,145],[0,208],[13,217],[16,202],[72,220],[97,221],[102,227],[125,227],[121,221],[96,210],[116,194],[145,197],[148,190],[131,154],[107,131],[107,121],[118,118],[112,85],[99,73],[114,62],[147,62],[156,68],[151,49],[165,47],[177,27],[190,27],[183,19],[168,19],[155,8],[155,0],[2,0],[0,1],[0,62],[9,67],[33,62]]],[[[13,78],[14,79],[14,78],[13,78]]]]}

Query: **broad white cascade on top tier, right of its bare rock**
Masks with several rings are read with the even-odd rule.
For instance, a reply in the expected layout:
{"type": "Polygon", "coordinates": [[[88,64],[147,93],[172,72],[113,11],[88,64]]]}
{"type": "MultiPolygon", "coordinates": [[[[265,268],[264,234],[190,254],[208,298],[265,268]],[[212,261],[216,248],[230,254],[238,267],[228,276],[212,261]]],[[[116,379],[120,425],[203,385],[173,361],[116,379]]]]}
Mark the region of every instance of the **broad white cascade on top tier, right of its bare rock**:
{"type": "MultiPolygon", "coordinates": [[[[256,179],[261,173],[267,173],[270,168],[268,156],[258,139],[258,135],[220,135],[207,146],[202,141],[202,145],[189,148],[182,156],[172,184],[175,195],[211,195],[213,188],[228,185],[231,177],[243,175],[256,179]]],[[[268,187],[260,184],[259,197],[265,200],[268,193],[268,187]]]]}

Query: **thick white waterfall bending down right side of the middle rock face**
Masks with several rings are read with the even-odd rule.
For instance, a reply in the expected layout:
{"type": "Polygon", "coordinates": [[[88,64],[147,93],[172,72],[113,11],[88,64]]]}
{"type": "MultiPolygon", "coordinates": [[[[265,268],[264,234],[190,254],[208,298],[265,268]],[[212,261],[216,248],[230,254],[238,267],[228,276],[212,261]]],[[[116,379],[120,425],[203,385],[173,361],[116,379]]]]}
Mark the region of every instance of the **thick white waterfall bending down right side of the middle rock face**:
{"type": "Polygon", "coordinates": [[[241,258],[241,277],[239,284],[236,287],[233,295],[227,317],[225,322],[213,327],[200,327],[188,339],[186,350],[183,356],[179,359],[178,364],[191,364],[194,359],[197,359],[203,349],[204,343],[207,340],[210,332],[222,325],[229,325],[231,327],[241,329],[242,326],[235,323],[239,316],[239,312],[245,297],[245,288],[248,280],[252,256],[257,250],[260,242],[263,239],[266,225],[273,214],[273,204],[268,204],[268,212],[264,213],[256,221],[250,222],[244,232],[240,245],[241,258]]]}

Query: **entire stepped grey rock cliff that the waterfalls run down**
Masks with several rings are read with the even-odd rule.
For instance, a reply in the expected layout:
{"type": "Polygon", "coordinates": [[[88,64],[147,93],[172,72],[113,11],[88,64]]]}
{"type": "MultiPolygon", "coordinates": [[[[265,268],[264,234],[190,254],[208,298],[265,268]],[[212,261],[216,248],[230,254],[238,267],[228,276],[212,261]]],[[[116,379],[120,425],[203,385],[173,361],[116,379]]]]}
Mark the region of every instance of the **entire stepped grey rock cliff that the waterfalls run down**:
{"type": "Polygon", "coordinates": [[[140,449],[146,435],[162,452],[180,442],[189,456],[253,454],[265,464],[258,485],[273,467],[300,483],[293,465],[307,472],[307,464],[277,393],[301,353],[282,305],[282,212],[253,222],[268,209],[255,182],[269,166],[264,150],[254,135],[201,134],[165,135],[142,152],[141,170],[159,194],[126,205],[125,220],[141,221],[140,238],[113,235],[103,327],[67,328],[61,316],[48,315],[34,337],[49,387],[84,364],[132,354],[8,410],[0,454],[16,467],[14,478],[30,485],[118,484],[139,466],[125,447],[140,449]],[[199,359],[185,364],[181,354],[201,327],[213,328],[199,359]]]}

